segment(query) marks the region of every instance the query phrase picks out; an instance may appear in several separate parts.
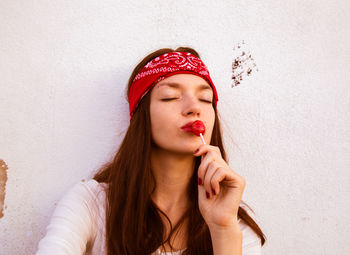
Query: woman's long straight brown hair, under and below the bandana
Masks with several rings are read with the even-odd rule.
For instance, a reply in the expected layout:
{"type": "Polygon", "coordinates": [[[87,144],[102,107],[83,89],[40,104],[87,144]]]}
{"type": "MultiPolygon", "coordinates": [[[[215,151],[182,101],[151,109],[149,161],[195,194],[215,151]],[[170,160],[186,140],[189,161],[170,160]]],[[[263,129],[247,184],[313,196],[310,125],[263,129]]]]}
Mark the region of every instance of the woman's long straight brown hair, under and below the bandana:
{"type": "MultiPolygon", "coordinates": [[[[199,54],[188,47],[180,47],[176,50],[164,48],[147,55],[133,70],[129,78],[126,96],[129,94],[134,77],[147,62],[173,51],[190,52],[199,58],[199,54]]],[[[188,196],[192,201],[190,208],[174,227],[167,215],[151,199],[156,181],[151,171],[150,162],[152,138],[149,106],[150,93],[147,93],[136,108],[113,160],[102,166],[94,176],[96,181],[108,184],[106,195],[107,254],[149,255],[166,243],[172,247],[169,241],[171,236],[181,223],[188,219],[190,224],[187,228],[187,249],[183,254],[212,255],[213,248],[209,228],[198,208],[197,171],[194,171],[188,187],[188,196]],[[170,233],[166,240],[163,238],[165,226],[160,214],[163,214],[170,223],[170,233]]],[[[214,103],[213,107],[215,122],[210,144],[218,146],[223,159],[227,161],[214,103]]],[[[198,169],[200,162],[200,157],[197,157],[195,169],[198,169]]],[[[245,204],[243,201],[242,203],[245,204]]],[[[250,207],[248,206],[248,208],[250,207]]],[[[261,239],[261,245],[264,245],[263,232],[242,207],[238,210],[238,217],[256,232],[261,239]]]]}

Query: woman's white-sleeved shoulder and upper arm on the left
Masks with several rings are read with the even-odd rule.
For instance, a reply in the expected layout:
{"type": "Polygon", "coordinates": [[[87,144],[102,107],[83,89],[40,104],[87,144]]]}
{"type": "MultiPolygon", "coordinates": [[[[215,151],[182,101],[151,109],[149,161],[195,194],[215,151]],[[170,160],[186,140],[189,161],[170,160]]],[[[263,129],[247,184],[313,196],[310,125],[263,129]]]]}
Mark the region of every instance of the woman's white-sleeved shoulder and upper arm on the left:
{"type": "Polygon", "coordinates": [[[56,205],[37,254],[85,254],[86,245],[104,226],[104,188],[88,180],[68,189],[56,205]]]}

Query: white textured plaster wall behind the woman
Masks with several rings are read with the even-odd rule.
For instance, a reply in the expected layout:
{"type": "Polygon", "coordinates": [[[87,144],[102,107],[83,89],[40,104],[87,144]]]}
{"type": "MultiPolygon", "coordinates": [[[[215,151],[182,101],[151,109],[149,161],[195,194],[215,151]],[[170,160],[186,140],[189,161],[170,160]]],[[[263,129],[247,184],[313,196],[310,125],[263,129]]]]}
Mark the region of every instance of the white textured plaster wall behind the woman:
{"type": "Polygon", "coordinates": [[[33,254],[55,203],[108,160],[133,67],[159,47],[207,64],[264,254],[350,254],[350,2],[0,2],[0,254],[33,254]],[[231,88],[233,46],[259,69],[231,88]]]}

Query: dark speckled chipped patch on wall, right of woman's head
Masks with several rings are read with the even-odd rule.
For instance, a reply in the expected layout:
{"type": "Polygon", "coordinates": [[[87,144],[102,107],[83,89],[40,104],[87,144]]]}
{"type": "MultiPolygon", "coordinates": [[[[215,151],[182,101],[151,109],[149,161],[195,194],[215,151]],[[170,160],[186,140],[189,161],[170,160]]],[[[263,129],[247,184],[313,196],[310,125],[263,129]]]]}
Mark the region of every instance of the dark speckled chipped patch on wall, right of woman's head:
{"type": "Polygon", "coordinates": [[[252,54],[245,49],[244,40],[233,47],[234,59],[232,61],[232,87],[242,83],[244,77],[258,71],[252,54]]]}

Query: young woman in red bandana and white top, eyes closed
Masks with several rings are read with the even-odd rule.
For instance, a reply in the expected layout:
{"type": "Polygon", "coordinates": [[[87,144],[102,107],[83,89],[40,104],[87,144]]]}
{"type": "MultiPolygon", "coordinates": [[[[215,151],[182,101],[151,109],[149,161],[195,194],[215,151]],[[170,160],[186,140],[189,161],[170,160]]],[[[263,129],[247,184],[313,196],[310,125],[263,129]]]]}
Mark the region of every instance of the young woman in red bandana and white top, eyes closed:
{"type": "Polygon", "coordinates": [[[198,53],[149,54],[127,96],[118,152],[61,199],[37,255],[261,254],[265,236],[241,200],[245,179],[226,162],[217,91],[198,53]]]}

